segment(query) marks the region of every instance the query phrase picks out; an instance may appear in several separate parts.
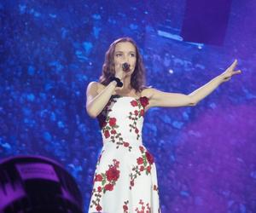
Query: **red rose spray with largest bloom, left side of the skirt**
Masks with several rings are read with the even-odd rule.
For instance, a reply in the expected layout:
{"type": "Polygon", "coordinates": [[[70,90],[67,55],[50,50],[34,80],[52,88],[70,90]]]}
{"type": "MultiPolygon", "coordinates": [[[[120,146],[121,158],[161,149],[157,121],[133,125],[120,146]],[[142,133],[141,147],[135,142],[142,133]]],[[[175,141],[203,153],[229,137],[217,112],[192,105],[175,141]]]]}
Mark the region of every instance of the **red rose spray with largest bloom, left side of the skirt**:
{"type": "Polygon", "coordinates": [[[115,186],[116,181],[118,181],[119,179],[119,161],[113,159],[113,164],[108,165],[108,167],[109,169],[105,173],[95,174],[95,178],[93,181],[94,186],[96,181],[101,182],[102,185],[94,187],[91,193],[91,196],[94,196],[95,199],[92,199],[92,204],[90,205],[90,208],[93,208],[93,206],[95,205],[97,211],[102,210],[102,206],[100,204],[102,193],[106,193],[107,191],[113,191],[113,187],[115,186]]]}

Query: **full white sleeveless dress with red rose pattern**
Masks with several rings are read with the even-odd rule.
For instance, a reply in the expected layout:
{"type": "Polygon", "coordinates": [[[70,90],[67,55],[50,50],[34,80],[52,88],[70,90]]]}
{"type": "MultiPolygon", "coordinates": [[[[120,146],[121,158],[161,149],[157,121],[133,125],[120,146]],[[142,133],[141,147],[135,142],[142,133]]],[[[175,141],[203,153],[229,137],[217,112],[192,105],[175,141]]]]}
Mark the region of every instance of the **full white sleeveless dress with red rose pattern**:
{"type": "Polygon", "coordinates": [[[98,115],[103,147],[96,163],[89,212],[159,213],[154,157],[143,146],[146,96],[112,95],[98,115]]]}

